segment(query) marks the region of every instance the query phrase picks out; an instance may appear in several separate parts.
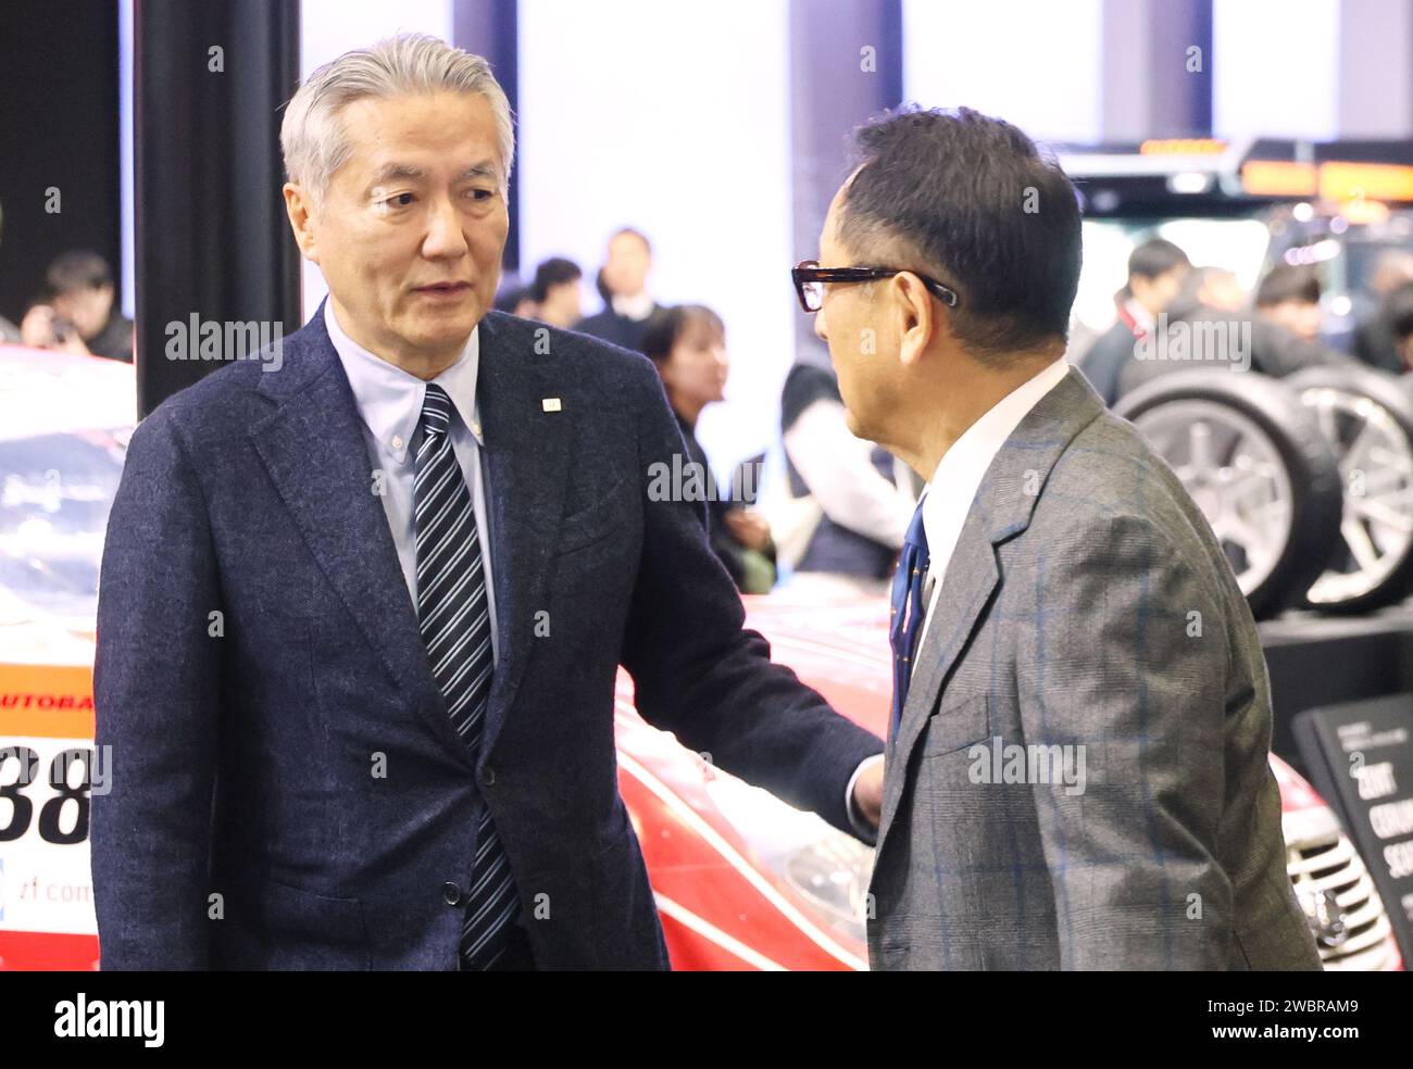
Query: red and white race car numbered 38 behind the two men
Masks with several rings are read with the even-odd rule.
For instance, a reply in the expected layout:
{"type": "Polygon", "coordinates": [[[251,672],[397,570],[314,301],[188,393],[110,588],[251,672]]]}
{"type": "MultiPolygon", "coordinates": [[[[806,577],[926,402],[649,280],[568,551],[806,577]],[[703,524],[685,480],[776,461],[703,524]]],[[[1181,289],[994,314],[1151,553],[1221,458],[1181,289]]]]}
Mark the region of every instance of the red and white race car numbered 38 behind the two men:
{"type": "MultiPolygon", "coordinates": [[[[131,431],[133,369],[0,347],[0,969],[97,966],[88,850],[93,616],[131,431]],[[32,756],[31,756],[32,754],[32,756]],[[21,761],[40,770],[21,784],[21,761]]],[[[882,731],[879,599],[747,599],[750,626],[829,702],[882,731]]],[[[617,691],[619,787],[678,969],[866,969],[873,852],[715,768],[617,691]]],[[[1328,806],[1272,757],[1290,878],[1328,969],[1399,969],[1383,907],[1328,806]]]]}

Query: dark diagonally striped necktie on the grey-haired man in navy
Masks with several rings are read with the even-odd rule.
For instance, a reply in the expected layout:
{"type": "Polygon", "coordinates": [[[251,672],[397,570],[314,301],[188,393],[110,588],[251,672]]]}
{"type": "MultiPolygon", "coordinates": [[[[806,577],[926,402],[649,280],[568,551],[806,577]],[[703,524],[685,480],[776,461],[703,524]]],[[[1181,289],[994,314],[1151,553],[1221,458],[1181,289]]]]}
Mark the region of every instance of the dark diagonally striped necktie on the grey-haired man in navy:
{"type": "MultiPolygon", "coordinates": [[[[451,448],[451,397],[434,383],[422,402],[422,441],[413,483],[417,617],[432,675],[456,734],[480,748],[490,675],[490,610],[471,490],[451,448]]],[[[462,922],[461,967],[487,969],[504,952],[519,912],[510,863],[482,809],[462,922]]]]}

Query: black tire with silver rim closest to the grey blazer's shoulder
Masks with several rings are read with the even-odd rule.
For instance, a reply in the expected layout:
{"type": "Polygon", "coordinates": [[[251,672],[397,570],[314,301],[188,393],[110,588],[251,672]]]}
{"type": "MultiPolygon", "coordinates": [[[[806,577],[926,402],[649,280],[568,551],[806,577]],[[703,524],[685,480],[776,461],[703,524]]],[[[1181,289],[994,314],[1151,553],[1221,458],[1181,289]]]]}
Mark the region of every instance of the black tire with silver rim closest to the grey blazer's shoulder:
{"type": "Polygon", "coordinates": [[[1113,411],[1193,494],[1252,614],[1300,604],[1340,545],[1344,493],[1335,453],[1296,393],[1256,371],[1184,369],[1113,411]]]}

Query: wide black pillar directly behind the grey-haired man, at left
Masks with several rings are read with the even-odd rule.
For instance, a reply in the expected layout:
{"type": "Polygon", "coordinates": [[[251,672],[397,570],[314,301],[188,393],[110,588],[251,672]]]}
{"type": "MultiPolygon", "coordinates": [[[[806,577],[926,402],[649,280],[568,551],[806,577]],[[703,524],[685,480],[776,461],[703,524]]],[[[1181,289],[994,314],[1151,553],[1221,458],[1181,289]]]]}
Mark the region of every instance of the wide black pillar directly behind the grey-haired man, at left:
{"type": "Polygon", "coordinates": [[[244,354],[168,359],[170,323],[196,315],[283,333],[300,326],[300,254],[280,193],[281,107],[300,80],[300,4],[137,0],[133,40],[141,417],[244,354]]]}

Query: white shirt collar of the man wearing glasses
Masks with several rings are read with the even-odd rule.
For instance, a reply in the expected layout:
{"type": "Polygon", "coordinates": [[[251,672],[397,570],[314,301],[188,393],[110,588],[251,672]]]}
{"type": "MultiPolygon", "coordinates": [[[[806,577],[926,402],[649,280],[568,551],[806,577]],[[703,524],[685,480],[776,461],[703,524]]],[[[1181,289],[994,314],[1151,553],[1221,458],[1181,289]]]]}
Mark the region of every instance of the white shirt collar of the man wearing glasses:
{"type": "MultiPolygon", "coordinates": [[[[1070,364],[1060,357],[1000,398],[952,442],[952,448],[942,455],[924,491],[927,497],[923,501],[923,530],[927,532],[930,549],[942,547],[948,531],[961,528],[981,480],[986,477],[986,469],[996,459],[1000,446],[1040,398],[1054,390],[1068,373],[1070,364]]],[[[945,544],[950,547],[952,542],[945,544]]]]}

